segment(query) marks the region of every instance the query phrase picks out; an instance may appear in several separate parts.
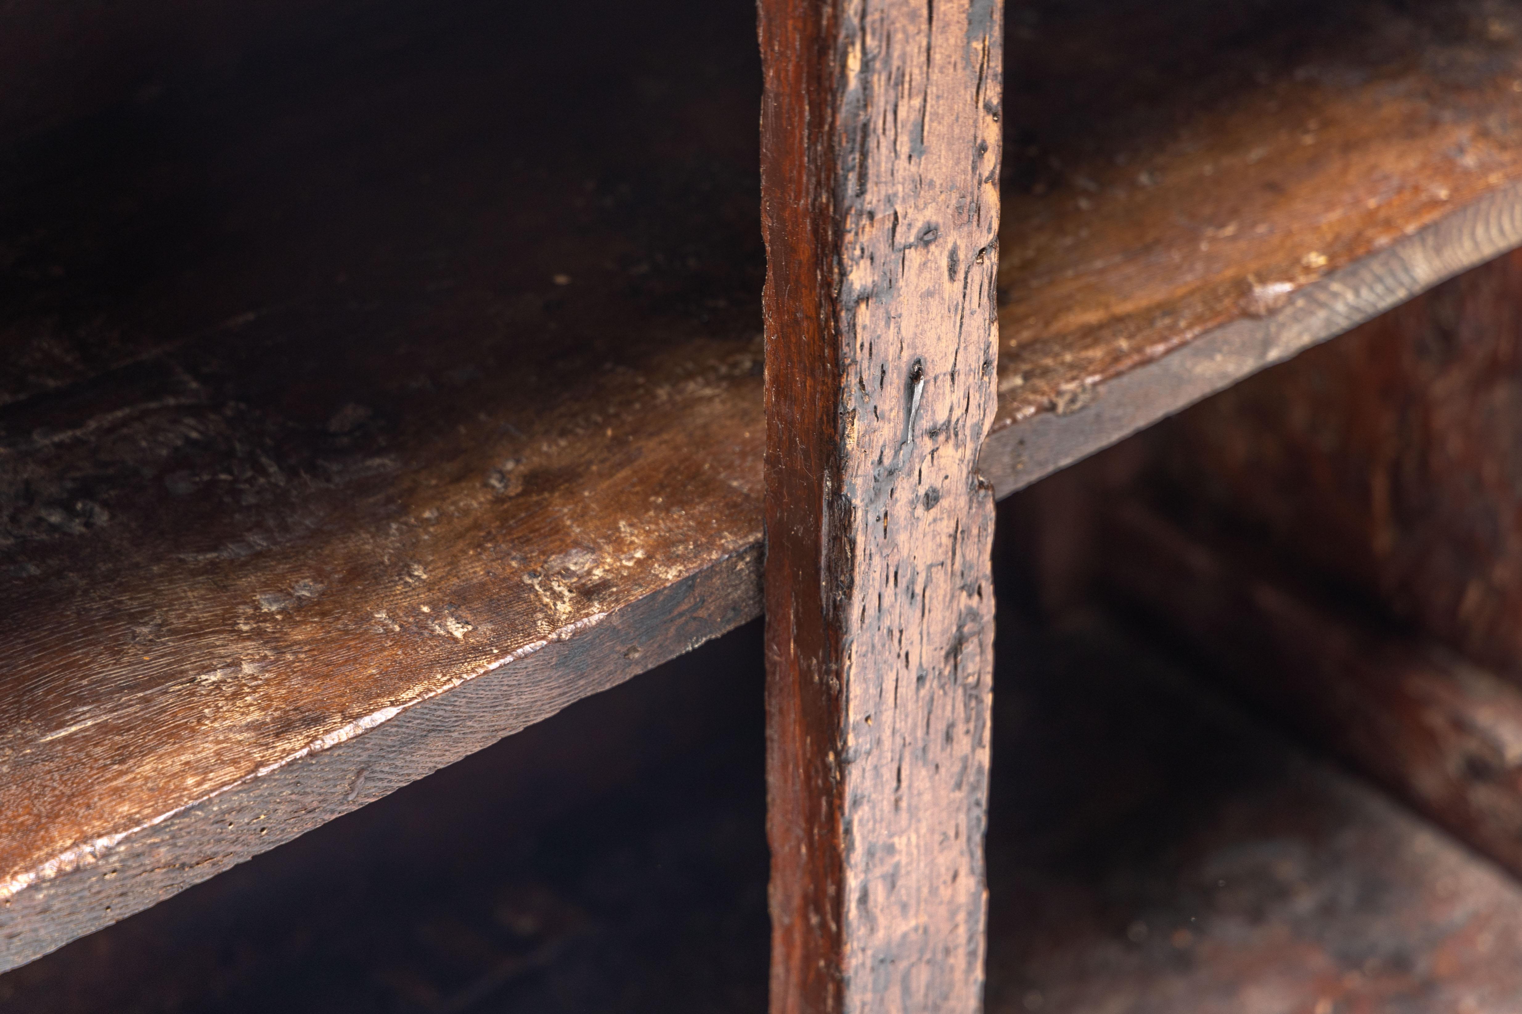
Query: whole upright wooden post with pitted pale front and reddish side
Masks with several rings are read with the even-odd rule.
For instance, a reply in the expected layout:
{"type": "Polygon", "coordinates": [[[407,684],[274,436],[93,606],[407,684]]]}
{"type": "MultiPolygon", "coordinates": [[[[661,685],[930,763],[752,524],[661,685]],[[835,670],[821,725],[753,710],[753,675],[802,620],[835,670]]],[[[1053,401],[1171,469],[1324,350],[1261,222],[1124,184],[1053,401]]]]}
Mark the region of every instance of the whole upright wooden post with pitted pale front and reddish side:
{"type": "Polygon", "coordinates": [[[761,0],[772,1011],[982,1005],[1000,0],[761,0]]]}

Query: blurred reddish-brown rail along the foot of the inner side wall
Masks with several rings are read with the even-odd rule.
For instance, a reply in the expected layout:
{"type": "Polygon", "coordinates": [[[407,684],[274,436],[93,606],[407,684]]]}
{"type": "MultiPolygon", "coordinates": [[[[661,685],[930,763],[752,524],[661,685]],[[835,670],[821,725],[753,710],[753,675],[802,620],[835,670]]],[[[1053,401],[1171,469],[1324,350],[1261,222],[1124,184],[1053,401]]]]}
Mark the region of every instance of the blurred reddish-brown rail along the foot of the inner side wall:
{"type": "Polygon", "coordinates": [[[1113,588],[1247,696],[1522,874],[1522,692],[1240,544],[1140,505],[1110,520],[1113,588]]]}

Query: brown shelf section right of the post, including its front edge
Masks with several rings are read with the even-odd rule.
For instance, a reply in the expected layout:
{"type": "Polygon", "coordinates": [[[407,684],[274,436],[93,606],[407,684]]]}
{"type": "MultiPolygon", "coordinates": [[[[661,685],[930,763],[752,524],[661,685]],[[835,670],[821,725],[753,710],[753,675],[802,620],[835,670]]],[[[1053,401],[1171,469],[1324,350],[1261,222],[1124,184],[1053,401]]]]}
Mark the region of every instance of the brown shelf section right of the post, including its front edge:
{"type": "Polygon", "coordinates": [[[1522,243],[1522,5],[1036,3],[1008,59],[1001,496],[1522,243]]]}

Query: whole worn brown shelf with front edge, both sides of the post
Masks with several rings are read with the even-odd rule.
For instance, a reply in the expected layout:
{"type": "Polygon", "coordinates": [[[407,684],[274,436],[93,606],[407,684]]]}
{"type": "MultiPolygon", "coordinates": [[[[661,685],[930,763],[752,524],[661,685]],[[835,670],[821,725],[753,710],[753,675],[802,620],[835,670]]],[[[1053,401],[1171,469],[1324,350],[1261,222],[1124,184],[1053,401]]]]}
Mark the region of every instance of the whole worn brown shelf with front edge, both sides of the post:
{"type": "MultiPolygon", "coordinates": [[[[689,6],[315,6],[6,144],[0,964],[758,614],[753,9],[689,6]]],[[[1011,14],[1001,491],[1522,242],[1519,9],[1301,6],[1011,14]]]]}

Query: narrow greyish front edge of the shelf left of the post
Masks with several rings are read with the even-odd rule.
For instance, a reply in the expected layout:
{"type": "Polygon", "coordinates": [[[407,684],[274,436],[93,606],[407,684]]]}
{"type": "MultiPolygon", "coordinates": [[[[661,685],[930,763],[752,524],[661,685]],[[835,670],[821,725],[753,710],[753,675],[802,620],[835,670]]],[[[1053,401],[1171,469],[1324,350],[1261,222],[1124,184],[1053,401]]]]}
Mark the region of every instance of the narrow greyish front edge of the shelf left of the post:
{"type": "Polygon", "coordinates": [[[761,547],[135,829],[12,874],[0,971],[140,912],[761,616],[761,547]]]}

